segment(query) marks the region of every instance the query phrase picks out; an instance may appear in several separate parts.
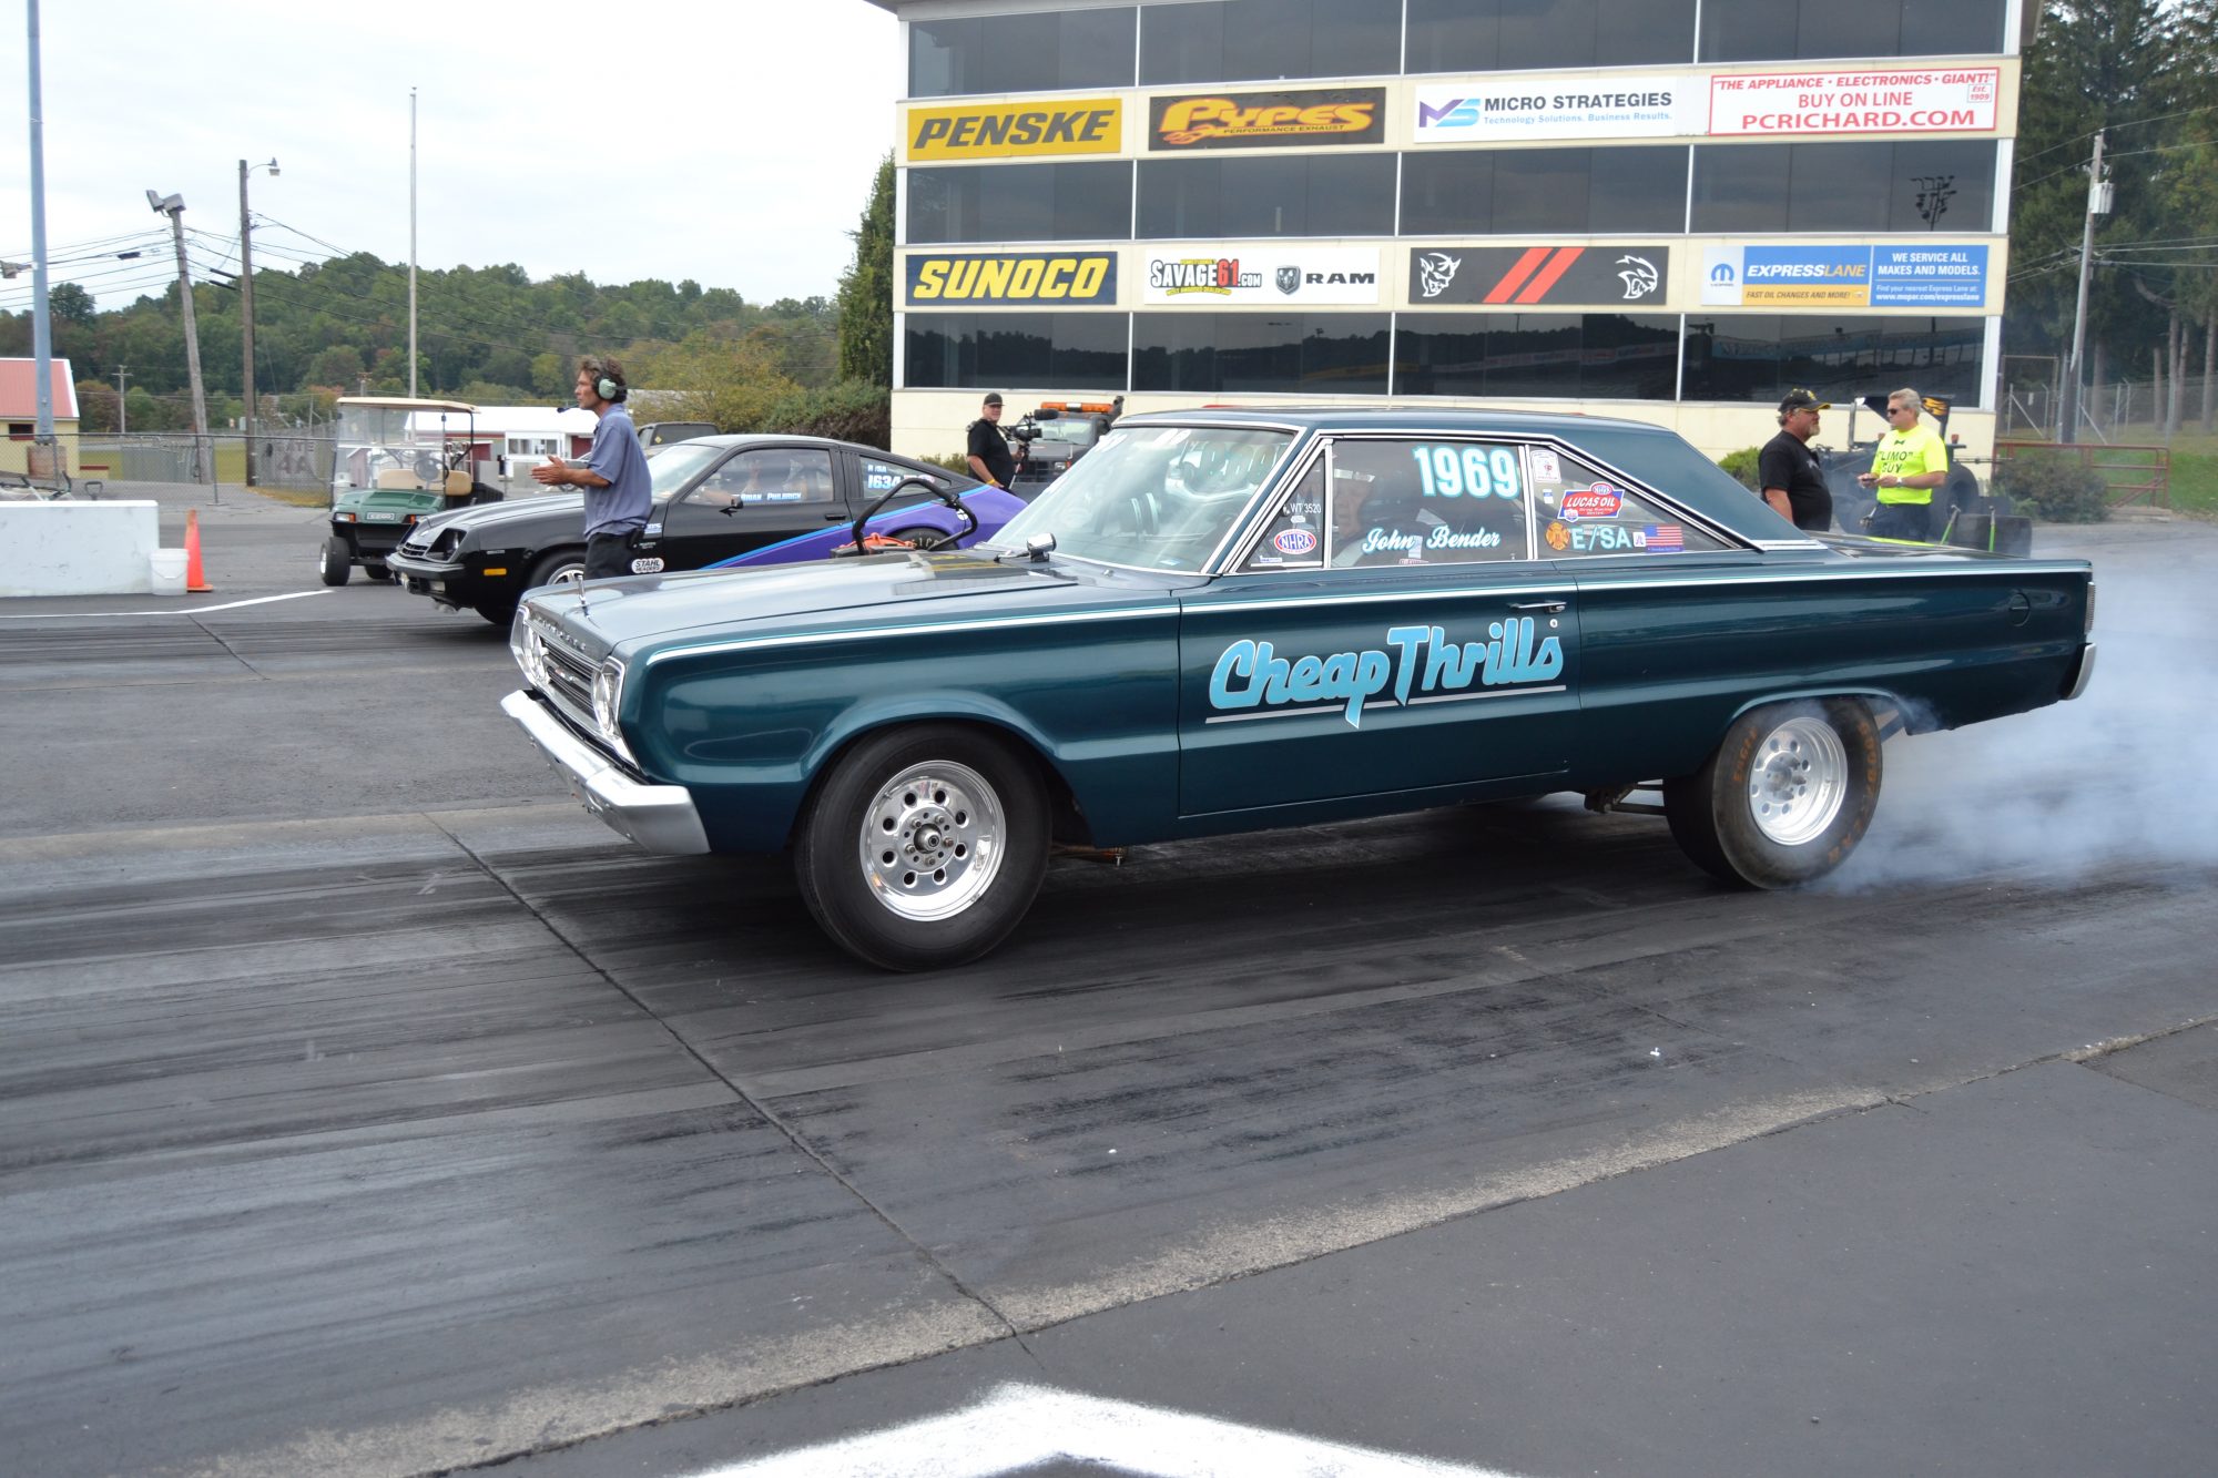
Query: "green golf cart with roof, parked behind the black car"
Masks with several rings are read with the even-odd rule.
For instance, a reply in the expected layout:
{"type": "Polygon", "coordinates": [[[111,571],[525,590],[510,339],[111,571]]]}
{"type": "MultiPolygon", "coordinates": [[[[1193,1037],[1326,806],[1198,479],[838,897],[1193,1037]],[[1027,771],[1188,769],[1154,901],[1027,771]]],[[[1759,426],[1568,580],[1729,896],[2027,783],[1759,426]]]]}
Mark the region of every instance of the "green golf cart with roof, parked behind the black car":
{"type": "Polygon", "coordinates": [[[477,406],[459,399],[362,395],[339,402],[337,459],[330,473],[330,537],[317,573],[344,586],[359,564],[370,579],[393,579],[390,555],[435,513],[492,504],[484,477],[477,406]]]}

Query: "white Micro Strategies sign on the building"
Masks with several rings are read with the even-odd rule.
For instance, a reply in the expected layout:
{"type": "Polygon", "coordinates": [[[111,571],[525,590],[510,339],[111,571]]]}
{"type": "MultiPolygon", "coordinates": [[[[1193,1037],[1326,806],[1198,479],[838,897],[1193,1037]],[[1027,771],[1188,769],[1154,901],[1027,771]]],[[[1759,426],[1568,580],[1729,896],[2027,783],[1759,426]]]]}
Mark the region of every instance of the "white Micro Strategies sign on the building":
{"type": "Polygon", "coordinates": [[[1486,78],[1420,87],[1415,140],[1683,138],[1708,122],[1710,89],[1699,75],[1486,78]]]}

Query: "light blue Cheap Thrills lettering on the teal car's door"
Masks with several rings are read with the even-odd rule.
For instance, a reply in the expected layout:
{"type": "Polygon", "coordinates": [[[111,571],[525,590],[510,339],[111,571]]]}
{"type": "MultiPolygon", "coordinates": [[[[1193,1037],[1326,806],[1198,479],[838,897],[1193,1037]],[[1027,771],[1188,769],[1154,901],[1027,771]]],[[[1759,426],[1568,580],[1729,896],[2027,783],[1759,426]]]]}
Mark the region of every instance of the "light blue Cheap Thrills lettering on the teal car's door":
{"type": "Polygon", "coordinates": [[[1448,641],[1442,626],[1391,626],[1386,650],[1280,657],[1269,641],[1242,637],[1209,675],[1209,706],[1220,710],[1340,703],[1362,728],[1364,703],[1393,692],[1395,703],[1471,688],[1544,684],[1564,672],[1564,646],[1537,637],[1533,617],[1488,621],[1484,641],[1448,641]]]}

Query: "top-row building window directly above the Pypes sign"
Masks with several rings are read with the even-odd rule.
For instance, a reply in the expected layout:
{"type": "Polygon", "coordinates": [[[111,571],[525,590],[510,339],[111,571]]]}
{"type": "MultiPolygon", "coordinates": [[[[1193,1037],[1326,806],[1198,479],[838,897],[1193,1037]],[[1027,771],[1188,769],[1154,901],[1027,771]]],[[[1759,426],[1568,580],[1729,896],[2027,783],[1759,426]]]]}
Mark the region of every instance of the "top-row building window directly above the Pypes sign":
{"type": "Polygon", "coordinates": [[[1204,0],[1140,16],[1142,87],[1397,71],[1400,7],[1377,0],[1204,0]]]}

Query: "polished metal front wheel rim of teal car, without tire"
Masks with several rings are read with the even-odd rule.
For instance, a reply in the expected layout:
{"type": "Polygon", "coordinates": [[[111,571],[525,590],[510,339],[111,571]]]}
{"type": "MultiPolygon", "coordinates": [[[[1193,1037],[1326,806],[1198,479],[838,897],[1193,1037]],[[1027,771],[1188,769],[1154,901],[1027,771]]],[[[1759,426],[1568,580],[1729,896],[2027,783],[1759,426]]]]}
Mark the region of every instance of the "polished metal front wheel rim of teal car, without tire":
{"type": "Polygon", "coordinates": [[[994,883],[1005,834],[994,788],[967,766],[932,759],[863,808],[863,881],[903,919],[952,919],[994,883]]]}

